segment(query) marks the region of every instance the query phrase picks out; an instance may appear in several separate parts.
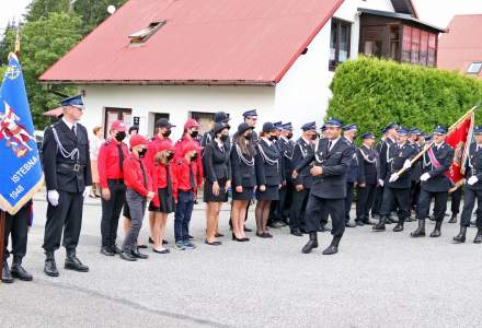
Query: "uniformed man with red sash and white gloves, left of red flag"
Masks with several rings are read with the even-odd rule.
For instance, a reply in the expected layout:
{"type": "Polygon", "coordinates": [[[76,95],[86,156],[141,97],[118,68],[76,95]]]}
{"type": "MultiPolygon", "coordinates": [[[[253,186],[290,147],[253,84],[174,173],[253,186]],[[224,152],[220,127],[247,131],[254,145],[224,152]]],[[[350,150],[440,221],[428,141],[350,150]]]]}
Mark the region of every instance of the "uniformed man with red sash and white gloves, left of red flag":
{"type": "Polygon", "coordinates": [[[447,129],[437,126],[434,130],[434,142],[422,157],[421,194],[418,199],[418,227],[412,237],[425,236],[425,219],[431,210],[432,198],[435,199],[435,229],[431,237],[440,236],[440,227],[447,210],[448,190],[454,186],[447,176],[454,160],[454,150],[445,142],[447,129]]]}

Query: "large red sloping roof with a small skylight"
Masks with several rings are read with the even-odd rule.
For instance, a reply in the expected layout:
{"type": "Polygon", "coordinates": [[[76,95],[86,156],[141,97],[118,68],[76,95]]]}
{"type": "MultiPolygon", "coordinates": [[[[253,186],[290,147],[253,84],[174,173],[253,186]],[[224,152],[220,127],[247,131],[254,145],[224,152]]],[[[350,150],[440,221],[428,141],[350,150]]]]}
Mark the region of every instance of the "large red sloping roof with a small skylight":
{"type": "MultiPolygon", "coordinates": [[[[130,0],[42,81],[274,84],[343,0],[130,0]],[[128,35],[167,21],[140,46],[128,35]]],[[[326,45],[328,47],[328,45],[326,45]]]]}

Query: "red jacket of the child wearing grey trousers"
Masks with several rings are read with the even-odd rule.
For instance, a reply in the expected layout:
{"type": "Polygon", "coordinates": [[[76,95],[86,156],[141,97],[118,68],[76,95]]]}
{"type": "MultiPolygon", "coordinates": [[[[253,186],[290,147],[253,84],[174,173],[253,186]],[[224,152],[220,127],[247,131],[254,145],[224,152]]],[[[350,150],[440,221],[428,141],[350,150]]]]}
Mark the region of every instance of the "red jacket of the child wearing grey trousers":
{"type": "MultiPolygon", "coordinates": [[[[154,191],[152,184],[152,178],[144,165],[142,161],[135,157],[134,155],[128,156],[124,160],[124,183],[127,188],[134,189],[144,197],[147,197],[149,191],[154,191]],[[144,174],[141,165],[145,167],[147,185],[144,184],[144,174]]],[[[154,191],[156,192],[156,191],[154,191]]],[[[157,197],[154,197],[157,198],[157,197]]]]}

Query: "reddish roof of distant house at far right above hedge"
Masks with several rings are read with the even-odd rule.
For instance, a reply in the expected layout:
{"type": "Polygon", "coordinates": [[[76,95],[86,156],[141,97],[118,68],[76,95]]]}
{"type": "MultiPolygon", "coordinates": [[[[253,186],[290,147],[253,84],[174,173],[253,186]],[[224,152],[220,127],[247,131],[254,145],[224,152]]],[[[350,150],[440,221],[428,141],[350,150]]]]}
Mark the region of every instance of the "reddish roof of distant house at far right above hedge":
{"type": "Polygon", "coordinates": [[[467,72],[472,62],[482,61],[482,14],[457,15],[448,30],[438,42],[437,66],[467,72]]]}

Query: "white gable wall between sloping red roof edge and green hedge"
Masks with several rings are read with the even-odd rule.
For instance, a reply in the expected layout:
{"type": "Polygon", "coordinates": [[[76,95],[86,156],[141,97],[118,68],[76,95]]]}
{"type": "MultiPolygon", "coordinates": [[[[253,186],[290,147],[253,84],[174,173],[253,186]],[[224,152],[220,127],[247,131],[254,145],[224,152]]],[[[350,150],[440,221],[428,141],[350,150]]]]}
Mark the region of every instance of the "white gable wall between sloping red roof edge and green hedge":
{"type": "MultiPolygon", "coordinates": [[[[345,0],[334,17],[352,22],[349,57],[358,57],[359,16],[358,8],[393,11],[390,0],[345,0]]],[[[331,21],[319,32],[308,52],[301,55],[276,85],[275,108],[279,119],[291,121],[296,129],[305,122],[324,120],[330,83],[334,72],[329,70],[331,21]]]]}

